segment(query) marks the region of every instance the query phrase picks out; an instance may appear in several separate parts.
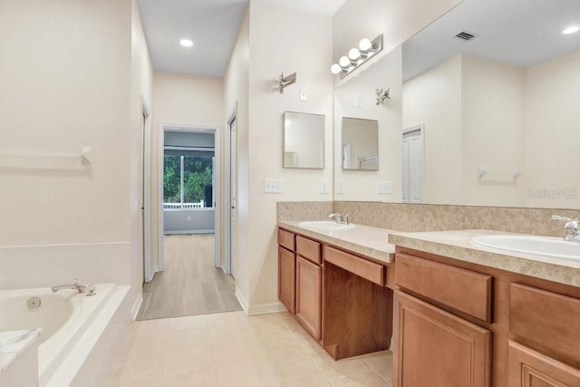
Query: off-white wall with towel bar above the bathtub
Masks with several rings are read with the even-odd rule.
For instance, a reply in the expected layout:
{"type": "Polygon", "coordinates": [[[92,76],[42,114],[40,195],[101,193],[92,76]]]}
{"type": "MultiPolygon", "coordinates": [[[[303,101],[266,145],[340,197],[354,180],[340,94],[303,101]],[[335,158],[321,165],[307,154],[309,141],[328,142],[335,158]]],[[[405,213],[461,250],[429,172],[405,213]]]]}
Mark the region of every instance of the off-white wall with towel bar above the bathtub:
{"type": "Polygon", "coordinates": [[[0,153],[92,149],[0,160],[0,287],[131,283],[131,7],[0,2],[0,153]]]}

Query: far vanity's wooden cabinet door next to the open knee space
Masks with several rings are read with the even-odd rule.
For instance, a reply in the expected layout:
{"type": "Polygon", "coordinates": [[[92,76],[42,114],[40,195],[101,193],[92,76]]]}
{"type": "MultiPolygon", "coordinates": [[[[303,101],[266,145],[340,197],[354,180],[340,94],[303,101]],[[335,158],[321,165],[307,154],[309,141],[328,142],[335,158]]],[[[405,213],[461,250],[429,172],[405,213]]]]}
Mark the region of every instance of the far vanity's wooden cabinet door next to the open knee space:
{"type": "Polygon", "coordinates": [[[296,264],[296,319],[320,340],[322,316],[322,268],[302,256],[296,264]]]}

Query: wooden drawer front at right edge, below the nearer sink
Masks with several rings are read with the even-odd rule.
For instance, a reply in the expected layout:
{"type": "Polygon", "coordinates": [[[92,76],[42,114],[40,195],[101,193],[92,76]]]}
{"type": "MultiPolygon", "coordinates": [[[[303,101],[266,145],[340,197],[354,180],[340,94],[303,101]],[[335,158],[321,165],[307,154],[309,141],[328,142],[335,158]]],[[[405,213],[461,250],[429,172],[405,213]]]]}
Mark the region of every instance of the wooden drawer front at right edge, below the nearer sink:
{"type": "Polygon", "coordinates": [[[580,363],[580,300],[577,298],[511,284],[509,330],[527,343],[580,363]]]}

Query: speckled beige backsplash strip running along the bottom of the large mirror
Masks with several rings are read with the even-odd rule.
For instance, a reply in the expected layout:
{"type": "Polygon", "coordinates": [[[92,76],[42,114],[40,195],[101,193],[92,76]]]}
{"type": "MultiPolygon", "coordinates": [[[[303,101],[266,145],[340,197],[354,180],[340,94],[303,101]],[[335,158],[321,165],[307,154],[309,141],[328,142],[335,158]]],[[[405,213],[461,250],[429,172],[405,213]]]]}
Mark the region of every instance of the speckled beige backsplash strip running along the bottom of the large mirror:
{"type": "Polygon", "coordinates": [[[552,215],[580,218],[580,209],[509,208],[334,201],[333,212],[352,214],[353,223],[400,231],[492,229],[563,237],[564,222],[552,215]]]}

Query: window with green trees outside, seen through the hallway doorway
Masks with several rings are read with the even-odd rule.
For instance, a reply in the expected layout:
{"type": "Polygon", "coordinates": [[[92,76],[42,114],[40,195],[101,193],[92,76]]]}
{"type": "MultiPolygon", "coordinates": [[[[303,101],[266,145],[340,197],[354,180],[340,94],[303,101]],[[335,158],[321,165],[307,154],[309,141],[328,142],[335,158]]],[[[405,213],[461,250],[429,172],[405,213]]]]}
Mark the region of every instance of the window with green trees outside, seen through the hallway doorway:
{"type": "Polygon", "coordinates": [[[163,208],[213,207],[213,157],[195,153],[194,156],[165,153],[163,208]]]}

